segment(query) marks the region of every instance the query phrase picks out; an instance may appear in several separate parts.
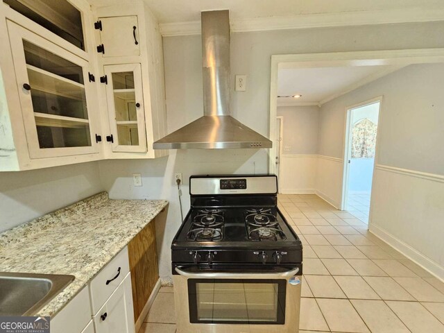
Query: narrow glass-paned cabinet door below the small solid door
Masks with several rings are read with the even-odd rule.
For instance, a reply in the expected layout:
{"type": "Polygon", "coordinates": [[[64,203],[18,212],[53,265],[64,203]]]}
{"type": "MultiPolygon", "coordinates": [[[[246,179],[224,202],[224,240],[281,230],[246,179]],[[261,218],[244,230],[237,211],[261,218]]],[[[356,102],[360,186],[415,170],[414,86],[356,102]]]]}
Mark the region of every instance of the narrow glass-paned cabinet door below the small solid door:
{"type": "Polygon", "coordinates": [[[140,64],[104,66],[108,117],[114,152],[146,152],[140,64]]]}

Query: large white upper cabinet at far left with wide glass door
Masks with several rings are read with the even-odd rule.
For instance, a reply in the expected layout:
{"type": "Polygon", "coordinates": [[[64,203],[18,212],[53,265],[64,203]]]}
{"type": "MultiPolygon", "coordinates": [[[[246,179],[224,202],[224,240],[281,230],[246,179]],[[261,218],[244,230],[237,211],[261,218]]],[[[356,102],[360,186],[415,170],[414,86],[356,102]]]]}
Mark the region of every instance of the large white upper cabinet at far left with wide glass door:
{"type": "Polygon", "coordinates": [[[85,0],[0,2],[0,171],[103,159],[89,26],[85,0]]]}

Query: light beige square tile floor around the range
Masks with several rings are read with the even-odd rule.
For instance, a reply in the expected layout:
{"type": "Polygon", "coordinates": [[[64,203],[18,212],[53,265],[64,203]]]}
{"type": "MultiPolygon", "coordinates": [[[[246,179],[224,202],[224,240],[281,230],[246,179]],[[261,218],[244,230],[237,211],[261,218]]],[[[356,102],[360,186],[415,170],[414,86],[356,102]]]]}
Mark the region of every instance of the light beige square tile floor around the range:
{"type": "MultiPolygon", "coordinates": [[[[444,332],[443,282],[318,196],[278,198],[304,246],[300,333],[444,332]]],[[[157,294],[148,332],[176,332],[173,288],[157,294]]]]}

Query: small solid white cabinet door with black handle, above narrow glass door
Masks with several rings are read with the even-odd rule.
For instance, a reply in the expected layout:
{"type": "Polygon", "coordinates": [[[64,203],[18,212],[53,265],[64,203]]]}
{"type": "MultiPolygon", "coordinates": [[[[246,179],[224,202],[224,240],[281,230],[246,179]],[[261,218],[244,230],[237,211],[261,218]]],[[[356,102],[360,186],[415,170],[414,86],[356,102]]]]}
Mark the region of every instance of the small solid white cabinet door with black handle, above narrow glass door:
{"type": "Polygon", "coordinates": [[[99,17],[101,44],[97,46],[102,57],[139,56],[139,27],[137,16],[99,17]]]}

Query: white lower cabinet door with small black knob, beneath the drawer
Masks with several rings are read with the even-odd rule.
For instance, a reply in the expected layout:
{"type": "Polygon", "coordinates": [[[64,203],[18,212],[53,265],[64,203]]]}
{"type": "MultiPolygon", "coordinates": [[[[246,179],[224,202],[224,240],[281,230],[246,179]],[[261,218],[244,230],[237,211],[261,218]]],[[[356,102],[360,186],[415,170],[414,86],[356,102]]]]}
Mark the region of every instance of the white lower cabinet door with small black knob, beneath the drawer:
{"type": "Polygon", "coordinates": [[[126,275],[93,320],[96,333],[135,333],[130,273],[126,275]]]}

